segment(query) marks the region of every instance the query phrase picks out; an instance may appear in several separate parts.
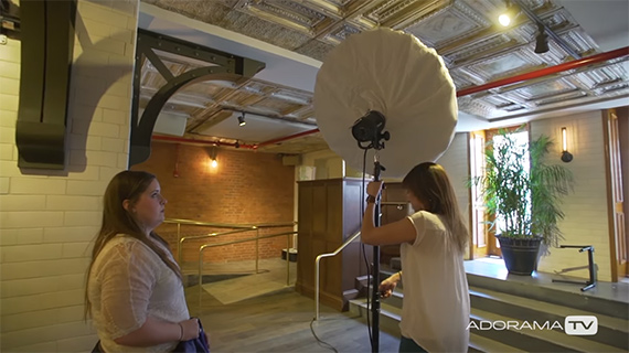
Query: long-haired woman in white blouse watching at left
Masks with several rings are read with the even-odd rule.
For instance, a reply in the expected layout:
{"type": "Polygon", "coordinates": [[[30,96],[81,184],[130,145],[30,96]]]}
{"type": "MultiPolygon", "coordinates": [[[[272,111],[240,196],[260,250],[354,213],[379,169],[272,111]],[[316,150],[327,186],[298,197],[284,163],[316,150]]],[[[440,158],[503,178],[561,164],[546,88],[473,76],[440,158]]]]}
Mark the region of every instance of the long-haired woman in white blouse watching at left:
{"type": "Polygon", "coordinates": [[[88,269],[86,314],[105,352],[170,352],[198,338],[181,271],[153,229],[167,200],[156,176],[124,171],[105,191],[103,226],[88,269]]]}

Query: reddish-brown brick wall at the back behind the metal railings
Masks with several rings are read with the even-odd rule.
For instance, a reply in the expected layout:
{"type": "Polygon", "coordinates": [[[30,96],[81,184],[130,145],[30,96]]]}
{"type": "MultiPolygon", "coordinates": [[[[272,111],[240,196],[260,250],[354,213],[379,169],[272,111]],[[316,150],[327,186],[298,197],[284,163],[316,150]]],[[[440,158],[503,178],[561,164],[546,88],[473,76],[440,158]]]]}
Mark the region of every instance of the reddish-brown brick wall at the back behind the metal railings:
{"type": "MultiPolygon", "coordinates": [[[[217,149],[218,167],[209,165],[205,147],[153,142],[151,157],[134,170],[157,175],[167,197],[167,218],[184,218],[222,224],[290,223],[294,220],[295,167],[285,167],[281,158],[232,148],[217,149]],[[179,154],[179,157],[178,157],[179,154]],[[173,176],[175,161],[179,176],[173,176]]],[[[164,224],[158,229],[177,248],[175,226],[164,224]]],[[[182,234],[201,235],[226,232],[212,227],[184,226],[182,234]]],[[[292,226],[263,228],[262,235],[291,232],[292,226]]],[[[224,243],[255,236],[256,232],[225,235],[205,243],[224,243]]],[[[292,236],[290,236],[292,238],[292,236]]],[[[198,261],[202,242],[184,242],[182,260],[198,261]]],[[[281,256],[287,237],[259,240],[260,258],[281,256]]],[[[228,263],[255,258],[255,243],[247,242],[204,250],[205,263],[228,263]]]]}

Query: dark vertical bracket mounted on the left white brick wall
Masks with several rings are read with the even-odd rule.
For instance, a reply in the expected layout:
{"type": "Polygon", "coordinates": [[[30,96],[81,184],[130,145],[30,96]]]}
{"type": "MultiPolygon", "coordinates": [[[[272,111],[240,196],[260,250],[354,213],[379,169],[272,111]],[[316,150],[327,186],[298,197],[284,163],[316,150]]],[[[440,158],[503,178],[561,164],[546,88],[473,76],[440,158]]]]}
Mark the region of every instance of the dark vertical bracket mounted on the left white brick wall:
{"type": "Polygon", "coordinates": [[[75,0],[22,1],[18,167],[65,169],[75,0]]]}

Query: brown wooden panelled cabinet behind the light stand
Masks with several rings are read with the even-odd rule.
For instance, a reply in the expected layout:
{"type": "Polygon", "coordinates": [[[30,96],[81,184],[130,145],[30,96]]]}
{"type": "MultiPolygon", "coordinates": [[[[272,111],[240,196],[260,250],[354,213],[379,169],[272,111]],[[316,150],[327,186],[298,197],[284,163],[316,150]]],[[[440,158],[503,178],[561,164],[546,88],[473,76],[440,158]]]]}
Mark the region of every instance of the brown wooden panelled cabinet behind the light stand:
{"type": "MultiPolygon", "coordinates": [[[[314,298],[314,260],[318,255],[333,253],[345,239],[360,231],[361,179],[301,181],[298,202],[298,257],[296,290],[314,298]]],[[[367,263],[373,249],[364,246],[367,263]]],[[[361,243],[351,243],[334,257],[321,259],[320,301],[339,310],[348,310],[355,297],[355,278],[366,275],[361,243]]]]}

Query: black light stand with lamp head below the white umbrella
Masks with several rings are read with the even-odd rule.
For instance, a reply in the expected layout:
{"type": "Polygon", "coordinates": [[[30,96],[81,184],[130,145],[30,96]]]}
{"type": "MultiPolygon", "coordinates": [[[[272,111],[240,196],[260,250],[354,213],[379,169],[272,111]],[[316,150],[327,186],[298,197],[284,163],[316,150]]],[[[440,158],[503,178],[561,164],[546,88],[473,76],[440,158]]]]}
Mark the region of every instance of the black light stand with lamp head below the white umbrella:
{"type": "MultiPolygon", "coordinates": [[[[375,149],[373,162],[373,181],[380,181],[380,172],[385,170],[380,163],[377,151],[384,149],[384,141],[388,141],[388,131],[383,131],[386,118],[382,113],[370,110],[362,118],[358,119],[352,126],[352,136],[356,139],[359,148],[363,150],[375,149]],[[369,145],[364,145],[369,143],[369,145]]],[[[374,226],[380,226],[381,196],[374,203],[374,226]]],[[[372,318],[372,341],[371,349],[373,353],[380,350],[380,246],[373,246],[372,258],[372,289],[371,289],[371,318],[372,318]]],[[[367,293],[369,295],[369,293],[367,293]]]]}

